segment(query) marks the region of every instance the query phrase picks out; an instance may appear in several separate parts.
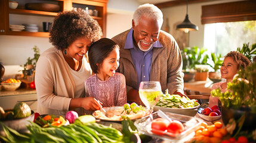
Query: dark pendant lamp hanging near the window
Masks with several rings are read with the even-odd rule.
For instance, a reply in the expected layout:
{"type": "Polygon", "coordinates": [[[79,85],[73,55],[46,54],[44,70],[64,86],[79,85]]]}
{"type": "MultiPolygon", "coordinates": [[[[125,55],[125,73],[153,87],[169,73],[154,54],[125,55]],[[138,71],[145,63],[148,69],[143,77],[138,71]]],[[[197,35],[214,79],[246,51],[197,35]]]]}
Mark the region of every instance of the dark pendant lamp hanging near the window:
{"type": "MultiPolygon", "coordinates": [[[[189,0],[187,0],[187,5],[188,5],[188,1],[189,0]]],[[[198,26],[196,26],[195,24],[192,24],[189,21],[189,15],[186,14],[186,18],[181,24],[177,25],[176,30],[181,30],[181,31],[184,31],[185,33],[188,33],[189,31],[198,30],[198,26]]]]}

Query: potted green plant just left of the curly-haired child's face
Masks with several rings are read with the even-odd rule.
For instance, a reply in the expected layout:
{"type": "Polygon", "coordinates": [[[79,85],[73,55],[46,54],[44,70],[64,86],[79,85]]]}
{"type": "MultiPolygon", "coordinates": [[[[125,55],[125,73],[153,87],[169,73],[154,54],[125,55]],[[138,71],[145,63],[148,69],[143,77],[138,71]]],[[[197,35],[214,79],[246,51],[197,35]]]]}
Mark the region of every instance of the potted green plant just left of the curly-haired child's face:
{"type": "Polygon", "coordinates": [[[215,56],[214,52],[211,53],[211,63],[208,64],[214,71],[209,72],[209,79],[212,82],[220,82],[221,81],[221,74],[220,74],[220,67],[223,63],[221,54],[215,56]]]}

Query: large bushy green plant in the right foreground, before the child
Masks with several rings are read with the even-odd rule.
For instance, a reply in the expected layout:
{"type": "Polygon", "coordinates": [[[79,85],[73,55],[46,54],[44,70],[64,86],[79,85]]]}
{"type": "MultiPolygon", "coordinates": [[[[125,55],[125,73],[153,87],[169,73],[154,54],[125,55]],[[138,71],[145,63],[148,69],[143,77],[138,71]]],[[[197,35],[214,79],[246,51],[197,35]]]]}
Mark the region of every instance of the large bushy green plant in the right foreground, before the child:
{"type": "MultiPolygon", "coordinates": [[[[221,101],[221,114],[226,129],[232,136],[256,137],[256,63],[241,69],[232,82],[227,83],[227,91],[211,91],[212,96],[221,101]]],[[[252,139],[252,138],[251,138],[252,139]]],[[[255,140],[256,141],[256,138],[255,140]]]]}

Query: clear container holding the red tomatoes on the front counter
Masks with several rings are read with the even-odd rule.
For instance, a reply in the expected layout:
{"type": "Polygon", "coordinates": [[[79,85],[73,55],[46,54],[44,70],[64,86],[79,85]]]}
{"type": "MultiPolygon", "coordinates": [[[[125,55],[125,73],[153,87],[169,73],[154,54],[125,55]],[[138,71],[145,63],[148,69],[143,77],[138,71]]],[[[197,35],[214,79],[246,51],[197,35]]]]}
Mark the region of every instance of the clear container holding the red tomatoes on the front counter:
{"type": "MultiPolygon", "coordinates": [[[[138,132],[143,133],[145,135],[149,135],[155,138],[161,138],[171,142],[185,142],[193,138],[193,136],[195,135],[195,130],[198,129],[201,126],[201,123],[203,122],[202,119],[199,119],[197,117],[185,116],[181,114],[168,112],[164,113],[172,120],[179,120],[181,123],[183,123],[185,130],[180,134],[177,134],[175,137],[168,135],[156,135],[155,133],[151,132],[152,119],[150,119],[149,116],[136,120],[134,122],[134,125],[137,127],[138,132]]],[[[159,118],[158,112],[153,113],[153,119],[156,118],[159,118]]]]}

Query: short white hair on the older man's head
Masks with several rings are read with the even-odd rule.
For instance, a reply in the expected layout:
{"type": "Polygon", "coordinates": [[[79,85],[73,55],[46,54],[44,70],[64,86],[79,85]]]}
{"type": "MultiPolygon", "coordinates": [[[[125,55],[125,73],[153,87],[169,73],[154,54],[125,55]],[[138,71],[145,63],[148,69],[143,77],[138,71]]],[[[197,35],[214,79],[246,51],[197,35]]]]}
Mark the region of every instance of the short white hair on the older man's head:
{"type": "Polygon", "coordinates": [[[135,26],[138,25],[138,21],[140,20],[140,17],[144,15],[146,17],[149,18],[153,18],[154,20],[158,21],[159,27],[162,27],[163,24],[163,13],[162,11],[156,7],[153,4],[143,4],[140,5],[137,10],[135,10],[134,14],[133,14],[133,21],[135,26]]]}

